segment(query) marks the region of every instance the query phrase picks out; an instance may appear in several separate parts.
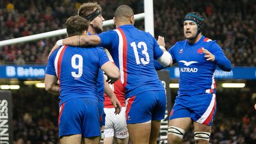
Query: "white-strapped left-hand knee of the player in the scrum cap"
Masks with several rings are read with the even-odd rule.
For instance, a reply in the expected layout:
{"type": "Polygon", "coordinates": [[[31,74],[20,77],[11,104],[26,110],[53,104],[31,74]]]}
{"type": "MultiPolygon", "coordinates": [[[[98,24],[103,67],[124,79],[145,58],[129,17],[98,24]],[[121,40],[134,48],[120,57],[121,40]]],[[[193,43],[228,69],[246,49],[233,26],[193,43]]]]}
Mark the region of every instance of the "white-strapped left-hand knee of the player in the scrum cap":
{"type": "Polygon", "coordinates": [[[168,127],[168,143],[177,143],[183,140],[185,130],[180,127],[169,126],[168,127]]]}

